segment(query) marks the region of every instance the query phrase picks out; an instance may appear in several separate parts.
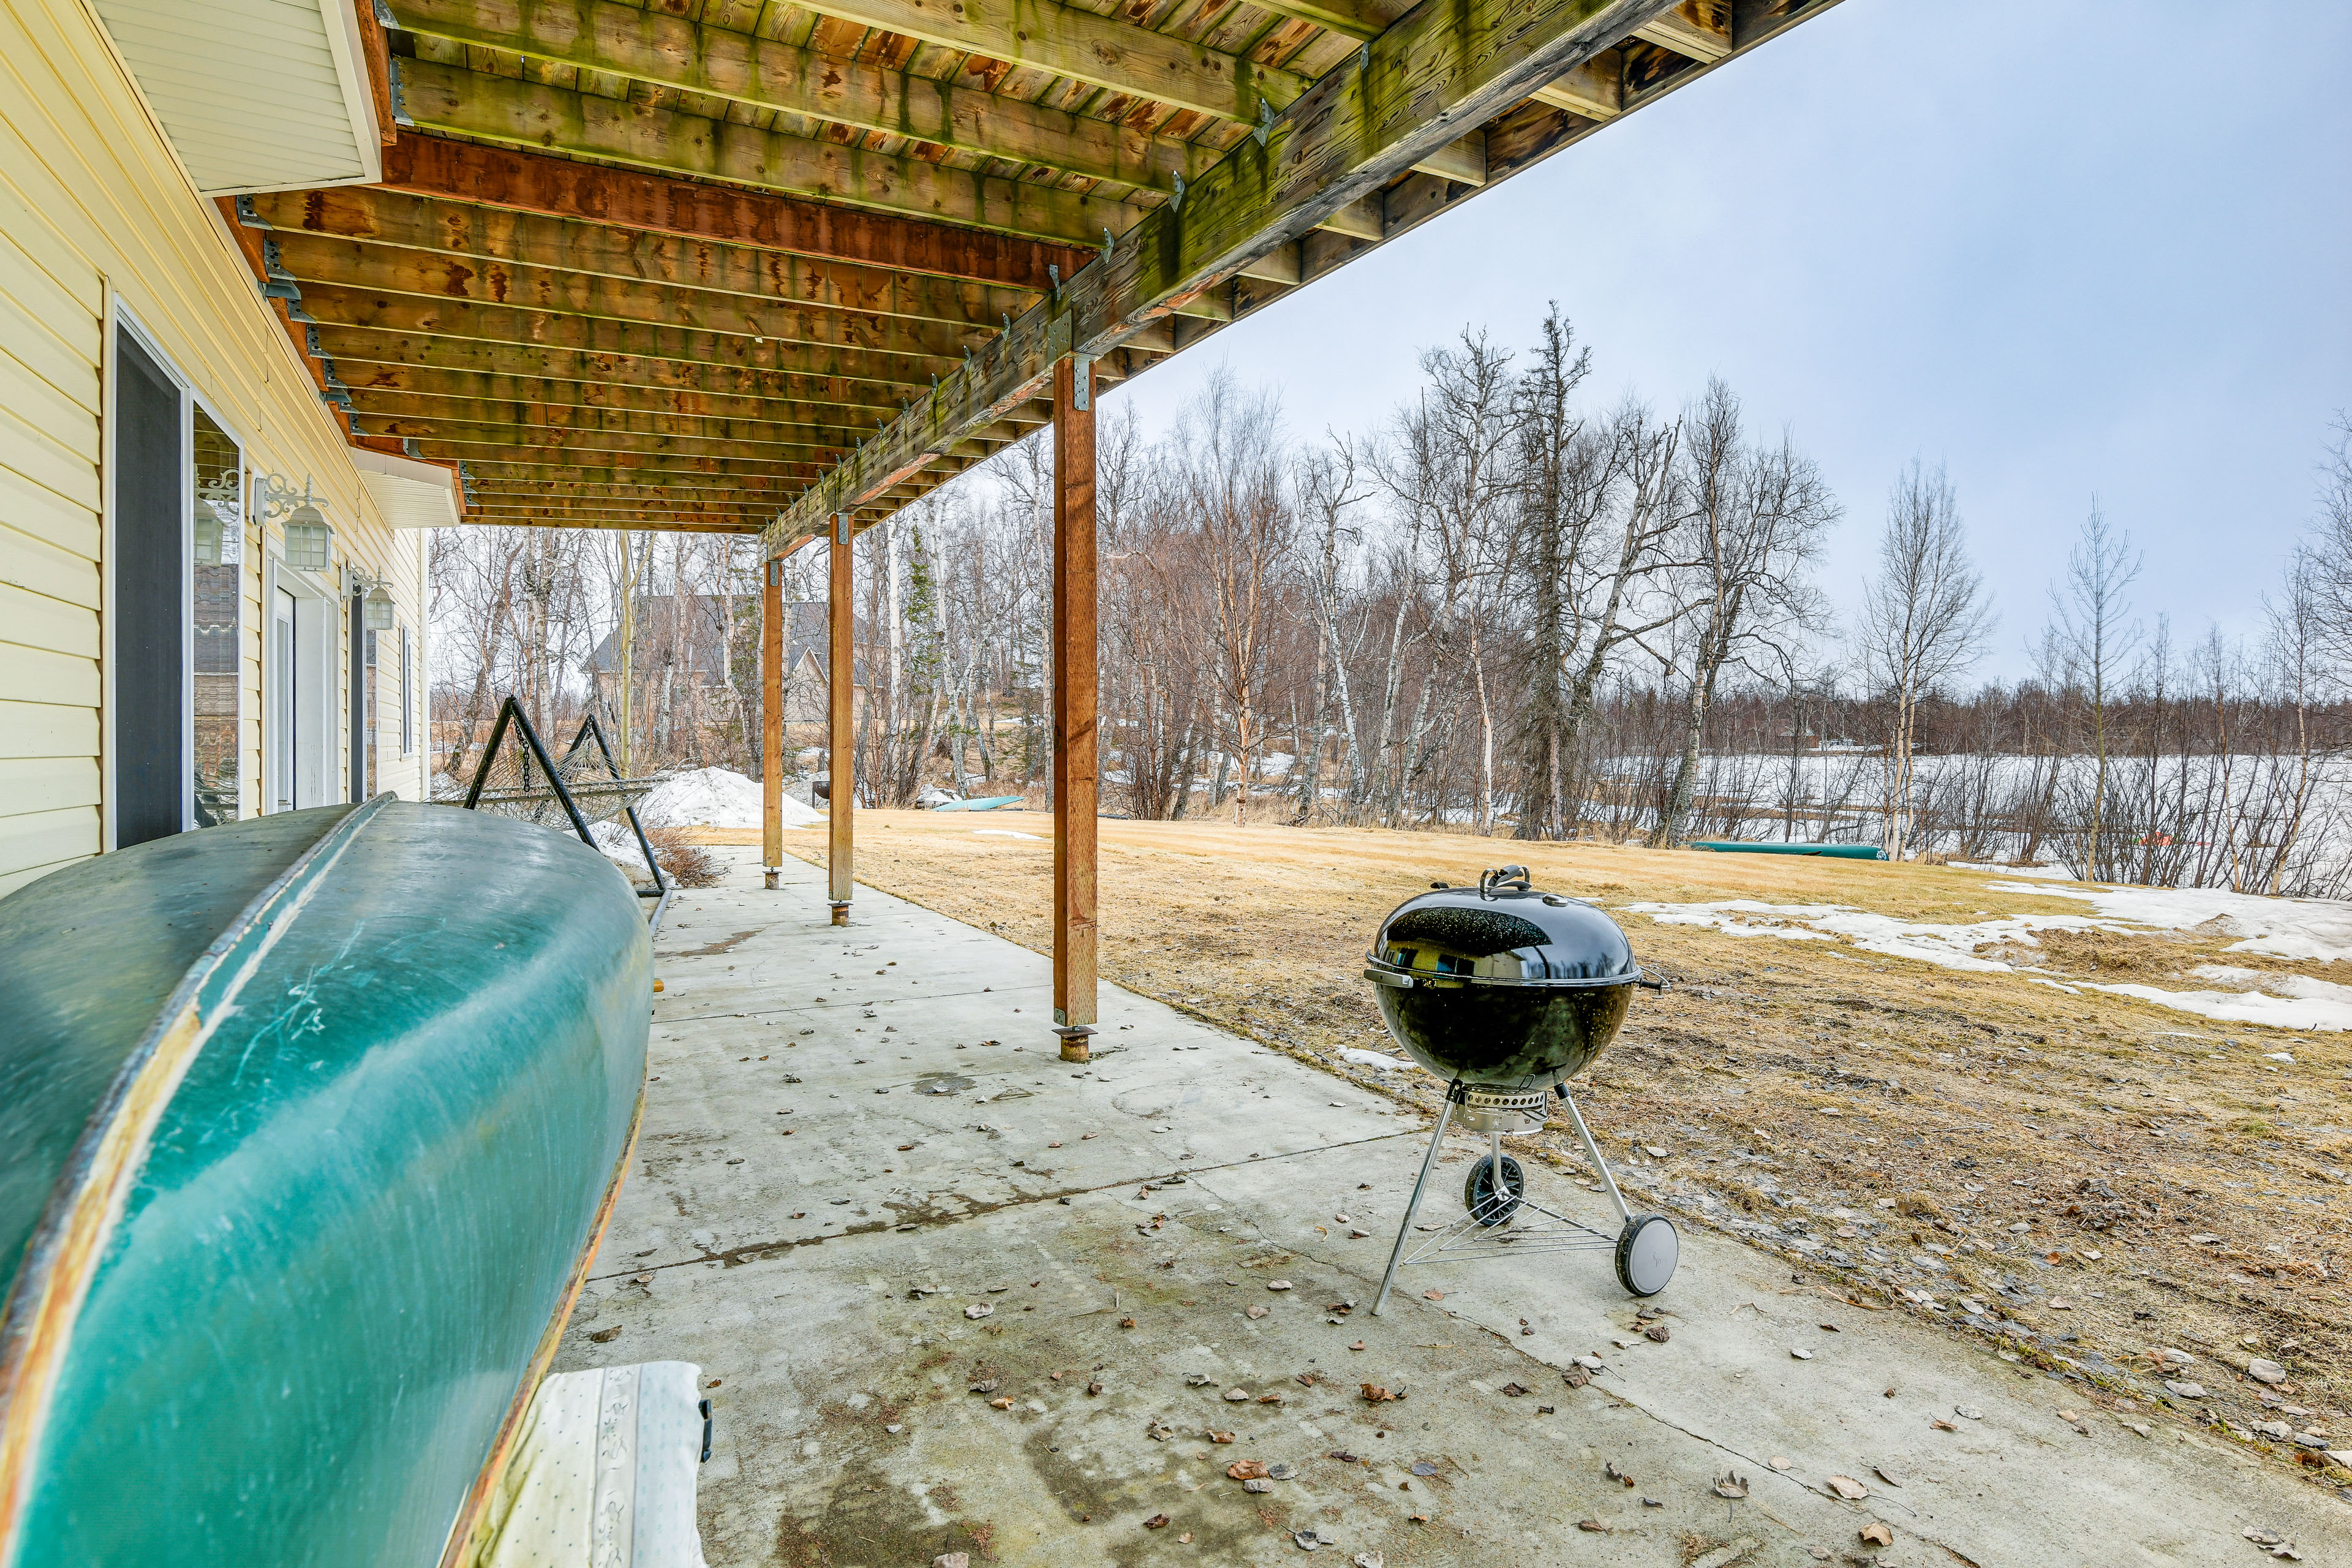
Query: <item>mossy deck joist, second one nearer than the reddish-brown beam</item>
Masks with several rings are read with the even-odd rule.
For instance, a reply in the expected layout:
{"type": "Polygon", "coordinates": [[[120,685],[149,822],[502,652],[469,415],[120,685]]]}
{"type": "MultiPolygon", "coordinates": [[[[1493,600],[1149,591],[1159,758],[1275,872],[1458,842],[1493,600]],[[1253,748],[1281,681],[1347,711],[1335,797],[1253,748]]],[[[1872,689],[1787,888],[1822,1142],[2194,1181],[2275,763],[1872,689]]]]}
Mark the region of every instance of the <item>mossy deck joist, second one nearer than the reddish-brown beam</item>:
{"type": "Polygon", "coordinates": [[[412,33],[1117,186],[1171,190],[1216,160],[1120,120],[614,0],[400,0],[395,12],[412,33]]]}

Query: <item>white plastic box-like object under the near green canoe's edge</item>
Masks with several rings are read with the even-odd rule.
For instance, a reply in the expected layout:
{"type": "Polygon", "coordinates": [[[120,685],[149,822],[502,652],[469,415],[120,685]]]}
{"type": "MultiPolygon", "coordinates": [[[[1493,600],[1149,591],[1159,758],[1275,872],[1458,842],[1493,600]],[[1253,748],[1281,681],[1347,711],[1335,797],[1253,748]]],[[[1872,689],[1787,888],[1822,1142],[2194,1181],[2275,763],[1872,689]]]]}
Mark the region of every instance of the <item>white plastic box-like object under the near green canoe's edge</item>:
{"type": "Polygon", "coordinates": [[[475,1540],[480,1568],[703,1568],[703,1368],[642,1361],[539,1385],[475,1540]]]}

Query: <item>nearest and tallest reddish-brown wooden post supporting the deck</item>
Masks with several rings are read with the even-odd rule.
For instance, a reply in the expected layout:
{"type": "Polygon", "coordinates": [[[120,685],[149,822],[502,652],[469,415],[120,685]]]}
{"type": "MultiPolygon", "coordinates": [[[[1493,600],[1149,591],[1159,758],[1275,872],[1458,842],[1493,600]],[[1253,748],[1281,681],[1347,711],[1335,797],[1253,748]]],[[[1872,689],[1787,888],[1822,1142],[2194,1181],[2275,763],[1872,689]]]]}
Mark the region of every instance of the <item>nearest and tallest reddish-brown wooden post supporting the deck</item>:
{"type": "Polygon", "coordinates": [[[1054,1027],[1061,1060],[1094,1034],[1094,360],[1054,364],[1054,1027]]]}

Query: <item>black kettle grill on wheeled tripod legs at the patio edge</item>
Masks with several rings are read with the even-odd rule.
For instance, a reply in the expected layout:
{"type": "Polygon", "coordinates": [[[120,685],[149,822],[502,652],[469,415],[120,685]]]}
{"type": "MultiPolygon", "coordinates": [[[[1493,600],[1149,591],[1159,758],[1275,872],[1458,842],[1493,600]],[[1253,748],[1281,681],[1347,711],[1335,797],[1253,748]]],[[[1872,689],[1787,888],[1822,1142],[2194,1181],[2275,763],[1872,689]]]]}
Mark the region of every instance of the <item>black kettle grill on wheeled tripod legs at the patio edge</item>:
{"type": "Polygon", "coordinates": [[[1642,976],[1625,931],[1581,898],[1531,886],[1524,865],[1505,865],[1479,875],[1475,889],[1435,884],[1390,910],[1364,978],[1406,1056],[1446,1079],[1437,1131],[1371,1309],[1378,1314],[1388,1302],[1399,1267],[1465,1253],[1611,1248],[1630,1293],[1663,1291],[1682,1251],[1675,1225],[1625,1206],[1566,1084],[1616,1039],[1637,985],[1665,990],[1642,976]],[[1616,1237],[1529,1201],[1526,1173],[1503,1152],[1505,1133],[1543,1126],[1555,1093],[1618,1211],[1616,1237]],[[1421,1194],[1456,1117],[1489,1140],[1486,1159],[1463,1182],[1468,1213],[1406,1255],[1421,1194]]]}

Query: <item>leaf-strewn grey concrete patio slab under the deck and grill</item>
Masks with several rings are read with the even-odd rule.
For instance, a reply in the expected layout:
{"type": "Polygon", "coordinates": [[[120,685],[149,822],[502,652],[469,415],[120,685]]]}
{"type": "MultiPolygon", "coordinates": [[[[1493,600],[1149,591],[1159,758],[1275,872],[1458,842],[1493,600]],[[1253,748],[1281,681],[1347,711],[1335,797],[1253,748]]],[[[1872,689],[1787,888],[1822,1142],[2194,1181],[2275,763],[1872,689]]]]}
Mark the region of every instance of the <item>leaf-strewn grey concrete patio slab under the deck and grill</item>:
{"type": "Polygon", "coordinates": [[[1063,1065],[1042,957],[870,889],[835,929],[821,872],[731,858],[661,936],[640,1168],[557,1354],[703,1366],[713,1563],[2352,1561],[2352,1509],[2234,1446],[1705,1232],[1663,1342],[1606,1253],[1406,1269],[1371,1316],[1416,1114],[1112,987],[1063,1065]]]}

